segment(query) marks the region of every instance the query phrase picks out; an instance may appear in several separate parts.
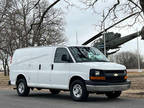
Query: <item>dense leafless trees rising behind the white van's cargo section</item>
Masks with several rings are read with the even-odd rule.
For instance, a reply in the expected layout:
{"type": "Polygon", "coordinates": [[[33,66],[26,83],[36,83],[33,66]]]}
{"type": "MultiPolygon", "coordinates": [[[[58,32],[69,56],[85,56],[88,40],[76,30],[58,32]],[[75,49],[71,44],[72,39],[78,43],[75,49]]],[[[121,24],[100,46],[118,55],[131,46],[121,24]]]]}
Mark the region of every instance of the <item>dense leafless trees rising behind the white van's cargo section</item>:
{"type": "Polygon", "coordinates": [[[0,59],[5,73],[15,49],[65,41],[63,12],[53,8],[55,3],[41,1],[36,5],[31,0],[11,0],[7,6],[7,0],[1,1],[0,59]]]}

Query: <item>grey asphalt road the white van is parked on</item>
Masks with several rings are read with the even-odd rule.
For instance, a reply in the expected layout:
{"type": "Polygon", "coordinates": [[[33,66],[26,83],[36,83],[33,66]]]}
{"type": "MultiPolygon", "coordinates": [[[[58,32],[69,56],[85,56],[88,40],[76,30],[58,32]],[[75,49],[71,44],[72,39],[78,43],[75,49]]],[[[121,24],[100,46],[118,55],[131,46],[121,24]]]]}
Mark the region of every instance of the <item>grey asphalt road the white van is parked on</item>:
{"type": "Polygon", "coordinates": [[[0,108],[144,108],[144,99],[109,100],[93,94],[86,102],[74,102],[69,93],[31,92],[28,97],[19,97],[15,90],[0,90],[0,108]]]}

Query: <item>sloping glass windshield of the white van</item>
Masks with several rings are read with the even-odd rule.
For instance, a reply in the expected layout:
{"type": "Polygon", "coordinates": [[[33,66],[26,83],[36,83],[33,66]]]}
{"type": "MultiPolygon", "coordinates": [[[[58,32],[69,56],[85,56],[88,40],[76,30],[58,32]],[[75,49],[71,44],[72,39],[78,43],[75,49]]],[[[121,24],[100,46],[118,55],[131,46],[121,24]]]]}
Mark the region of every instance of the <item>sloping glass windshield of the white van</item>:
{"type": "Polygon", "coordinates": [[[103,53],[94,47],[69,47],[76,62],[109,62],[103,53]]]}

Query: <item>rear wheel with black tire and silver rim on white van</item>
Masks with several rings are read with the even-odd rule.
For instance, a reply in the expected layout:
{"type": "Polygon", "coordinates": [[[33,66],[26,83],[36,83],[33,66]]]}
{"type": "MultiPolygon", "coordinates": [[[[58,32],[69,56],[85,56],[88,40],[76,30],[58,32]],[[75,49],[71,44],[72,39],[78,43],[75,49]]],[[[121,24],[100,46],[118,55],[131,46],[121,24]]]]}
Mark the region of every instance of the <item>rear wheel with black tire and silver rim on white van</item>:
{"type": "Polygon", "coordinates": [[[18,80],[17,84],[17,94],[19,96],[28,96],[30,92],[30,88],[27,86],[25,79],[18,80]]]}

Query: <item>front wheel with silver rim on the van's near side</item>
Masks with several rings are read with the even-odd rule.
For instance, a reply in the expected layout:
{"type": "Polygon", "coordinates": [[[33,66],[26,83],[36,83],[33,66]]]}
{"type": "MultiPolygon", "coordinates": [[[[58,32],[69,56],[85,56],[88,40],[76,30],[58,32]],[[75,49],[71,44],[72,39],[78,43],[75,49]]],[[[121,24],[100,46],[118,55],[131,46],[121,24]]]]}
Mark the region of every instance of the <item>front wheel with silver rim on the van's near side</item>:
{"type": "Polygon", "coordinates": [[[89,93],[88,93],[86,86],[82,80],[75,80],[71,83],[70,95],[74,101],[86,101],[87,100],[89,93]],[[74,93],[76,91],[76,87],[79,89],[79,90],[77,90],[77,92],[79,92],[79,94],[74,93]]]}

